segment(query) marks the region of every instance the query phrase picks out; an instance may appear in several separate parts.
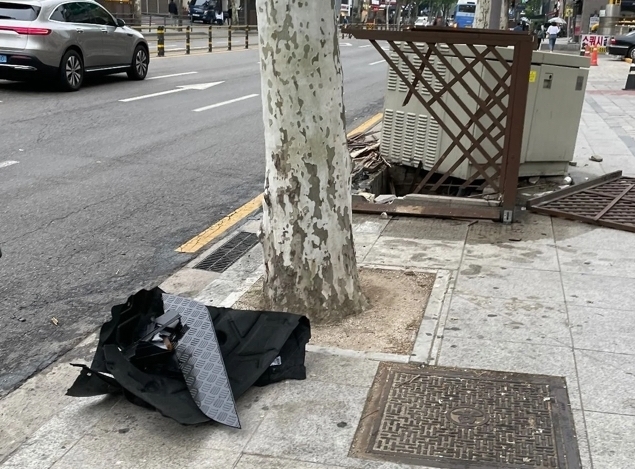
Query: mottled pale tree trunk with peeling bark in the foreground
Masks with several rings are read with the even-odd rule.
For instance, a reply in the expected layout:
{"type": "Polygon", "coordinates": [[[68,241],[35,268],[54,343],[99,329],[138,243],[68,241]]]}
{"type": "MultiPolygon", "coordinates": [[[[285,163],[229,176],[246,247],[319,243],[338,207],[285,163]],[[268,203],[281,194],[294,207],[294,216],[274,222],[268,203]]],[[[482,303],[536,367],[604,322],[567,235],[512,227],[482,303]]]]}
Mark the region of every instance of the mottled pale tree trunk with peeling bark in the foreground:
{"type": "Polygon", "coordinates": [[[257,0],[268,307],[333,323],[361,311],[334,4],[257,0]]]}

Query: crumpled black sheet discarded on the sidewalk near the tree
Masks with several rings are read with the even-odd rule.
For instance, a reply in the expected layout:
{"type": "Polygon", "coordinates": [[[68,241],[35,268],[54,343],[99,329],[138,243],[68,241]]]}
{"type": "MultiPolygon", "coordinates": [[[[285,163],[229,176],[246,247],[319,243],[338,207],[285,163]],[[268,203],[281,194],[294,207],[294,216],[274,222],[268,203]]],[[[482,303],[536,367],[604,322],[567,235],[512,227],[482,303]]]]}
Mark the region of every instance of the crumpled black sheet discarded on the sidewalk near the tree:
{"type": "MultiPolygon", "coordinates": [[[[75,365],[82,370],[67,395],[123,393],[129,401],[154,408],[182,424],[211,420],[192,397],[193,390],[188,388],[176,354],[147,341],[158,330],[157,324],[160,326],[157,318],[165,317],[163,298],[159,288],[141,290],[125,304],[112,308],[112,319],[101,328],[91,365],[75,365]]],[[[306,378],[305,348],[311,338],[306,317],[206,308],[234,399],[254,385],[306,378]]],[[[196,327],[200,326],[188,324],[185,329],[189,333],[205,333],[192,331],[196,327]]],[[[178,343],[179,334],[188,333],[174,330],[174,343],[178,343]]]]}

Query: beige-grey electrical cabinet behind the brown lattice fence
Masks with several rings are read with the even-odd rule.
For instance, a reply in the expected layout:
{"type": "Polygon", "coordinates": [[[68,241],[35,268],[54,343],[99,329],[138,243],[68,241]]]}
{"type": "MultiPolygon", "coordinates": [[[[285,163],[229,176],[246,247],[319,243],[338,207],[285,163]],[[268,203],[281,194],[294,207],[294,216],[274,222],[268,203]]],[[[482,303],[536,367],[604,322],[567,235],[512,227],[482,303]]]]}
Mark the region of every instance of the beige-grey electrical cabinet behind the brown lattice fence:
{"type": "MultiPolygon", "coordinates": [[[[424,45],[419,45],[425,50],[424,45]]],[[[472,62],[470,56],[472,52],[465,46],[457,46],[457,49],[465,60],[472,62]]],[[[477,47],[477,50],[483,48],[477,47]]],[[[497,48],[500,55],[511,63],[513,49],[497,48]]],[[[453,56],[448,49],[443,50],[444,57],[450,65],[460,72],[463,70],[463,61],[453,56]]],[[[432,55],[433,64],[439,77],[428,70],[424,70],[424,79],[428,86],[419,84],[417,90],[424,99],[430,99],[430,91],[439,91],[441,83],[438,78],[448,82],[454,75],[443,66],[438,57],[432,55]]],[[[392,58],[398,64],[400,70],[410,81],[413,74],[408,66],[399,60],[393,52],[392,58]]],[[[414,54],[409,54],[409,59],[416,68],[419,68],[420,61],[414,54]]],[[[496,59],[488,60],[489,67],[479,63],[474,67],[483,82],[490,88],[495,88],[497,80],[491,74],[493,70],[499,76],[504,75],[506,68],[496,59]]],[[[525,111],[523,142],[521,150],[521,165],[519,176],[556,176],[564,175],[567,172],[568,162],[573,159],[575,141],[577,138],[578,125],[584,103],[584,92],[588,78],[589,59],[587,57],[552,54],[535,51],[532,56],[531,72],[528,77],[529,90],[527,95],[527,107],[525,111]]],[[[464,79],[472,92],[484,99],[488,93],[483,89],[479,81],[467,73],[464,79]]],[[[408,87],[397,77],[397,74],[390,69],[386,85],[386,98],[384,106],[384,122],[382,126],[381,154],[390,162],[404,164],[407,166],[418,166],[422,163],[425,170],[436,170],[437,172],[451,172],[453,176],[461,179],[469,179],[475,172],[471,163],[463,161],[457,164],[463,151],[452,142],[450,133],[456,134],[459,126],[445,112],[450,109],[459,119],[460,123],[467,123],[469,116],[473,114],[479,105],[473,96],[466,91],[465,87],[457,84],[452,88],[453,93],[445,92],[440,101],[433,105],[433,109],[438,114],[443,124],[437,122],[429,115],[428,111],[412,96],[407,105],[403,105],[404,98],[408,93],[408,87]],[[443,164],[435,167],[442,155],[448,153],[443,164]]],[[[503,93],[499,93],[503,94],[503,93]]],[[[507,105],[507,96],[503,98],[503,103],[507,105]]],[[[483,132],[494,127],[494,134],[501,133],[500,127],[493,126],[496,119],[502,119],[502,126],[505,121],[500,107],[494,105],[489,114],[483,114],[478,124],[474,123],[470,127],[470,134],[474,139],[479,139],[483,132]]],[[[488,131],[489,132],[489,131],[488,131]]],[[[473,140],[464,136],[460,140],[461,145],[470,149],[473,147],[473,140]]],[[[497,144],[502,148],[504,136],[499,135],[497,144]]],[[[482,139],[481,145],[488,156],[497,153],[495,145],[489,138],[482,139]]],[[[470,151],[473,158],[479,162],[485,162],[485,158],[480,151],[472,149],[470,151]]]]}

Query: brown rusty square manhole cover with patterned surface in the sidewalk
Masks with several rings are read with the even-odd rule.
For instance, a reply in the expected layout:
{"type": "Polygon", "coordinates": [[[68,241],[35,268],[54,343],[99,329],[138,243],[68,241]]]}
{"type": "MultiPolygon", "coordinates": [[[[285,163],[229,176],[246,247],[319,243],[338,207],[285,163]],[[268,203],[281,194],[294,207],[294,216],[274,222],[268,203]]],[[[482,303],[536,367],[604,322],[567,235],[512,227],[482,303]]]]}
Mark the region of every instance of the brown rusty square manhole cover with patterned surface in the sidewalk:
{"type": "Polygon", "coordinates": [[[469,469],[581,467],[564,378],[381,363],[351,456],[469,469]]]}

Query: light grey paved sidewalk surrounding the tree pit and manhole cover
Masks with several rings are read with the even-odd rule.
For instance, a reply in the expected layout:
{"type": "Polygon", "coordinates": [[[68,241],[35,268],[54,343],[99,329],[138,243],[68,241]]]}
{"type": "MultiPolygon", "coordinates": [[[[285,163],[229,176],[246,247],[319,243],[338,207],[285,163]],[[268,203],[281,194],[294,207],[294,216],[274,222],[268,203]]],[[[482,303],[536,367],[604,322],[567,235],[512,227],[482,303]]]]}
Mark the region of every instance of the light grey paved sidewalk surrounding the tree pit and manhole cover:
{"type": "MultiPolygon", "coordinates": [[[[627,64],[604,58],[599,67],[591,69],[576,147],[578,166],[572,168],[575,178],[616,169],[635,175],[635,131],[631,126],[635,93],[620,93],[627,72],[627,64]],[[590,162],[592,154],[603,156],[604,161],[590,162]]],[[[240,229],[255,232],[257,228],[256,217],[240,229]]],[[[238,401],[242,430],[216,425],[192,428],[125,399],[65,397],[78,374],[68,363],[92,357],[93,335],[0,401],[0,461],[4,460],[0,467],[424,467],[404,463],[403,455],[414,457],[414,450],[408,442],[388,438],[394,428],[421,418],[424,408],[416,415],[393,409],[393,420],[386,414],[377,421],[381,427],[376,428],[388,436],[386,441],[376,442],[381,448],[373,447],[373,451],[388,459],[400,452],[402,459],[393,459],[398,462],[357,457],[363,433],[360,430],[356,437],[358,425],[361,422],[360,429],[364,429],[377,417],[376,410],[368,411],[374,402],[371,388],[376,373],[379,370],[381,376],[398,381],[403,378],[391,366],[409,362],[418,368],[425,364],[423,370],[438,365],[562,376],[582,467],[635,467],[635,234],[523,213],[521,222],[512,226],[356,216],[354,238],[361,267],[407,269],[435,276],[409,353],[372,350],[372,340],[365,352],[312,343],[305,381],[254,388],[238,401]]],[[[222,274],[192,269],[195,263],[163,287],[217,306],[235,304],[263,270],[260,246],[222,274]]],[[[410,384],[412,380],[399,381],[393,390],[399,394],[402,385],[414,389],[410,384]]],[[[520,392],[512,384],[508,397],[504,397],[507,391],[499,393],[503,401],[513,400],[520,392]]],[[[424,389],[427,392],[432,387],[424,389]]],[[[507,390],[507,384],[502,389],[507,390]]],[[[389,402],[397,399],[391,396],[389,402]]],[[[445,399],[438,398],[439,404],[445,399]]],[[[537,434],[546,428],[531,419],[522,420],[522,413],[515,415],[521,430],[531,428],[537,434]]],[[[476,427],[468,425],[471,430],[466,434],[478,442],[474,428],[487,416],[472,418],[476,427]]],[[[426,438],[434,436],[426,434],[426,438]]],[[[456,442],[443,441],[442,446],[459,451],[453,444],[456,442]]],[[[512,451],[504,446],[494,448],[500,450],[498,455],[512,451]]],[[[526,457],[509,467],[537,467],[536,461],[526,457]]]]}

